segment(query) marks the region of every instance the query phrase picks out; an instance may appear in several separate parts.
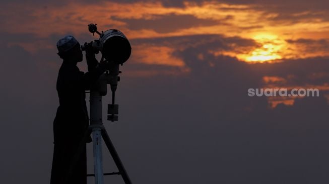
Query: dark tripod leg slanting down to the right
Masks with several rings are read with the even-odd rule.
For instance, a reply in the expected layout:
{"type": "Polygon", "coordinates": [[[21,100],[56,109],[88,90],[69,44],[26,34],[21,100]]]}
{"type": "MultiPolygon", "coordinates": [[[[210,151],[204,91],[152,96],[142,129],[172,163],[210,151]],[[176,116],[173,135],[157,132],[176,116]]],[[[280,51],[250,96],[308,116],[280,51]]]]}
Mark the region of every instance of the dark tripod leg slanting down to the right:
{"type": "Polygon", "coordinates": [[[131,181],[130,181],[130,178],[127,174],[127,172],[125,171],[124,167],[123,167],[123,164],[119,158],[119,155],[118,153],[116,152],[112,142],[111,142],[111,139],[110,137],[108,136],[107,132],[105,129],[102,129],[102,137],[103,137],[103,140],[108,148],[108,150],[110,151],[111,155],[112,155],[112,158],[117,166],[117,168],[119,169],[119,172],[124,180],[124,183],[125,184],[131,184],[131,181]]]}

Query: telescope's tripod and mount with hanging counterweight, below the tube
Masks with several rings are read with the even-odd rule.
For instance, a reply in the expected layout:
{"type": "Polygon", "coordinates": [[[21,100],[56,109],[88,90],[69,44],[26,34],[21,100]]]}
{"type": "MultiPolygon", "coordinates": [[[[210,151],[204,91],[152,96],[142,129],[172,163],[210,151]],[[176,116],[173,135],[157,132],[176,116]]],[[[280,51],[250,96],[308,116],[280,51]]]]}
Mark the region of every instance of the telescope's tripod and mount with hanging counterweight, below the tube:
{"type": "MultiPolygon", "coordinates": [[[[115,175],[119,174],[122,176],[125,184],[130,184],[131,181],[129,176],[117,154],[109,135],[102,122],[102,96],[106,95],[107,84],[110,84],[112,91],[112,104],[108,105],[108,117],[110,121],[118,120],[118,105],[114,104],[115,90],[117,82],[120,80],[118,74],[119,65],[115,64],[111,69],[111,72],[106,71],[102,74],[96,84],[90,90],[90,126],[85,132],[84,138],[79,146],[79,150],[85,145],[87,138],[92,133],[93,136],[93,153],[94,153],[94,174],[87,174],[87,176],[95,177],[95,184],[103,184],[104,175],[115,175]],[[113,70],[112,70],[113,69],[113,70]],[[102,138],[108,148],[117,168],[118,172],[103,173],[103,162],[102,162],[102,138]]],[[[79,158],[79,150],[73,159],[73,163],[76,163],[79,158]]],[[[72,168],[71,168],[72,169],[72,168]]]]}

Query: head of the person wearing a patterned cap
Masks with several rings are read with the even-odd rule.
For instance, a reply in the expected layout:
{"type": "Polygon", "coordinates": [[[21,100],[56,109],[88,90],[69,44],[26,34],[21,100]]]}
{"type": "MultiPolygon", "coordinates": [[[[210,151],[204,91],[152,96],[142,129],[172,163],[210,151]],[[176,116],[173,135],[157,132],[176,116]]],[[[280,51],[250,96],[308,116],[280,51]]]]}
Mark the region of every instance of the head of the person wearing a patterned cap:
{"type": "Polygon", "coordinates": [[[80,62],[83,59],[83,54],[80,48],[80,43],[71,35],[65,36],[57,42],[58,55],[63,60],[72,62],[80,62]]]}

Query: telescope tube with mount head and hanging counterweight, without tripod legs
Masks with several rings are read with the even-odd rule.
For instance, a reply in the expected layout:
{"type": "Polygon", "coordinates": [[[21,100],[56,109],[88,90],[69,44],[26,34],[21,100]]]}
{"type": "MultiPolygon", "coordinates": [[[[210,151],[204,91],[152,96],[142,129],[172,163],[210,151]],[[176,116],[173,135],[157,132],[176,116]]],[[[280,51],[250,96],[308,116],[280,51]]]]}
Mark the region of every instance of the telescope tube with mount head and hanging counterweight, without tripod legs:
{"type": "MultiPolygon", "coordinates": [[[[107,120],[114,122],[118,120],[118,104],[115,104],[115,91],[117,88],[117,83],[120,81],[118,76],[121,71],[119,71],[119,65],[123,65],[124,62],[128,60],[131,54],[131,46],[125,35],[116,29],[110,29],[107,31],[102,31],[101,33],[97,31],[96,24],[89,24],[88,30],[99,35],[99,39],[95,40],[92,44],[95,54],[101,52],[102,61],[109,61],[108,68],[105,73],[103,73],[96,84],[91,89],[92,96],[106,96],[107,94],[107,84],[110,84],[112,91],[112,102],[108,104],[108,116],[107,120]]],[[[82,46],[82,50],[85,48],[82,46]]],[[[99,98],[99,97],[98,97],[99,98]]]]}

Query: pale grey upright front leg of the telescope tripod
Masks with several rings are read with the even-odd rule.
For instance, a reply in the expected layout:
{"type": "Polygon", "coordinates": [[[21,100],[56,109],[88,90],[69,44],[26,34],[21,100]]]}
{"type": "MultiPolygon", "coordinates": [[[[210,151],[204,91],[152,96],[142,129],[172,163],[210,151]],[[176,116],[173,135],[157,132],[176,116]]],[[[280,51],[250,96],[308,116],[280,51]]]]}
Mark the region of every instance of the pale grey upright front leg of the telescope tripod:
{"type": "Polygon", "coordinates": [[[95,184],[103,184],[102,132],[101,128],[93,128],[95,184]]]}

